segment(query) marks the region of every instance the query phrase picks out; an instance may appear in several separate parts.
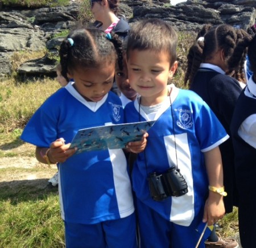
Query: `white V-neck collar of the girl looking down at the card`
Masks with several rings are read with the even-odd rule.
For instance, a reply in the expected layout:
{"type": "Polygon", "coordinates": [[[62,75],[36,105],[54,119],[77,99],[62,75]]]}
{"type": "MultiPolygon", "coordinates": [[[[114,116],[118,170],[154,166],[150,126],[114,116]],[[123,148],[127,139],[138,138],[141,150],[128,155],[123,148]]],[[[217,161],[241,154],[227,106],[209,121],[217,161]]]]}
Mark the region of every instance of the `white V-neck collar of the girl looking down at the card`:
{"type": "Polygon", "coordinates": [[[77,101],[80,101],[82,104],[84,104],[88,109],[92,110],[93,112],[96,112],[102,104],[106,101],[106,98],[108,98],[108,94],[106,94],[100,101],[96,102],[95,104],[90,104],[88,101],[85,100],[84,97],[82,97],[74,88],[73,84],[75,82],[69,82],[66,86],[65,89],[68,90],[68,92],[76,98],[77,101]]]}

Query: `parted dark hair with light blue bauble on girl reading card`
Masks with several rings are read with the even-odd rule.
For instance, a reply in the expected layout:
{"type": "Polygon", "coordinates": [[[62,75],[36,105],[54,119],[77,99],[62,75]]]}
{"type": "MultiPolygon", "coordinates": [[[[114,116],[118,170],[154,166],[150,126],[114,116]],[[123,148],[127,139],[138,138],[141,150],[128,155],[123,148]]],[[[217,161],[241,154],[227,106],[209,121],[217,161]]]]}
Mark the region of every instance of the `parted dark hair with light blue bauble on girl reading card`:
{"type": "Polygon", "coordinates": [[[68,80],[68,72],[77,67],[98,68],[122,60],[122,42],[118,35],[107,38],[97,28],[74,30],[63,40],[59,49],[61,75],[68,80]]]}

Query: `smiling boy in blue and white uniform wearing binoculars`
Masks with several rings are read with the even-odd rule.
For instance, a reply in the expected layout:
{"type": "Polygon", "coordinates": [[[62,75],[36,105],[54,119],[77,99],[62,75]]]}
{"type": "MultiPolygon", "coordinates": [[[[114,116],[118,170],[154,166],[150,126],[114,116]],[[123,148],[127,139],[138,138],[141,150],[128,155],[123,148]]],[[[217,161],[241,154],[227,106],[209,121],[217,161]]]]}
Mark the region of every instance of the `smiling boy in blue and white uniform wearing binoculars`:
{"type": "Polygon", "coordinates": [[[129,82],[141,97],[126,105],[126,122],[156,120],[132,172],[142,248],[196,247],[197,228],[213,225],[225,213],[218,146],[228,135],[197,94],[174,85],[168,90],[177,68],[176,46],[175,30],[159,19],[134,23],[127,40],[129,82]],[[161,188],[161,178],[173,167],[188,187],[177,197],[168,192],[174,195],[172,188],[161,188]],[[152,177],[158,188],[149,187],[152,177]]]}

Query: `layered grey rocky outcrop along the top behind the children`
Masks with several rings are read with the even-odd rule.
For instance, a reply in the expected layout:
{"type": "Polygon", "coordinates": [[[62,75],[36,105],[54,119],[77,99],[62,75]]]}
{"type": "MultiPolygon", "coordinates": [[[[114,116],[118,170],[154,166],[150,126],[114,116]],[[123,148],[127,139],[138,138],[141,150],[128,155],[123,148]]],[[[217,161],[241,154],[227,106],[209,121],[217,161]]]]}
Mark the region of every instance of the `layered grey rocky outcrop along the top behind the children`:
{"type": "MultiPolygon", "coordinates": [[[[79,25],[80,2],[76,0],[65,7],[15,7],[2,6],[0,12],[0,76],[11,73],[10,56],[14,52],[47,48],[57,55],[63,38],[56,38],[56,34],[79,25]]],[[[187,31],[197,31],[206,23],[247,28],[256,18],[255,0],[188,0],[176,6],[171,6],[169,0],[121,0],[120,9],[130,23],[141,18],[161,18],[177,30],[187,31]]],[[[19,75],[54,75],[56,60],[51,57],[54,56],[27,61],[18,69],[19,75]]]]}

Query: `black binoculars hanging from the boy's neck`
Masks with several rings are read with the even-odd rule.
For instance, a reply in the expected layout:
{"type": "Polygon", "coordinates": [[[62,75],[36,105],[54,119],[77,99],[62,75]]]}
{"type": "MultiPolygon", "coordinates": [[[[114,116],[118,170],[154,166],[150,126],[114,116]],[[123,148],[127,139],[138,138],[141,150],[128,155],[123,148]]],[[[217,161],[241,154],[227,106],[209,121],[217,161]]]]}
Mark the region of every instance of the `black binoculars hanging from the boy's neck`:
{"type": "Polygon", "coordinates": [[[169,196],[183,196],[188,193],[188,184],[180,170],[171,167],[164,173],[150,173],[148,176],[150,195],[155,201],[162,201],[169,196]]]}

